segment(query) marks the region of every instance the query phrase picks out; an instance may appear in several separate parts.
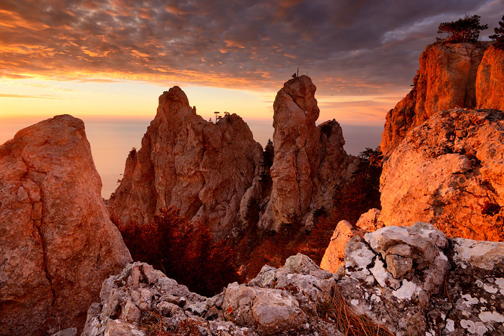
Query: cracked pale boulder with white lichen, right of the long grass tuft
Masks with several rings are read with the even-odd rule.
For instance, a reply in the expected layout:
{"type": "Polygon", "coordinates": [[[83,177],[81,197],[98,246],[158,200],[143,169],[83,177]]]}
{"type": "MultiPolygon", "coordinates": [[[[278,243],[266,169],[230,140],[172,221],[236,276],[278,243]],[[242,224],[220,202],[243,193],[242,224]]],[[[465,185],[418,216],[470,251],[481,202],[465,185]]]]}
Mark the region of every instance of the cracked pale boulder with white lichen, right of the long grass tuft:
{"type": "Polygon", "coordinates": [[[395,335],[426,334],[429,298],[450,268],[446,235],[427,223],[385,227],[346,245],[341,292],[357,313],[395,335]]]}

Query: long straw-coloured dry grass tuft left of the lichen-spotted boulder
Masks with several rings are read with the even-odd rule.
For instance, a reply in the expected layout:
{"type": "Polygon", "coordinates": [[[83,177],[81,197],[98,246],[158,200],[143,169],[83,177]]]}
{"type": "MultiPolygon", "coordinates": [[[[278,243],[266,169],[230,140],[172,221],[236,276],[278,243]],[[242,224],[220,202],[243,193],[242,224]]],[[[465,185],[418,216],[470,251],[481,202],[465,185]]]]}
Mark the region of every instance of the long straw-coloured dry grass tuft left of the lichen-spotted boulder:
{"type": "MultiPolygon", "coordinates": [[[[334,295],[327,295],[319,301],[317,311],[308,314],[313,325],[317,319],[335,324],[338,330],[350,336],[394,336],[384,325],[374,323],[366,315],[358,315],[345,301],[339,288],[334,295]]],[[[328,336],[323,328],[318,328],[319,334],[328,336]]]]}

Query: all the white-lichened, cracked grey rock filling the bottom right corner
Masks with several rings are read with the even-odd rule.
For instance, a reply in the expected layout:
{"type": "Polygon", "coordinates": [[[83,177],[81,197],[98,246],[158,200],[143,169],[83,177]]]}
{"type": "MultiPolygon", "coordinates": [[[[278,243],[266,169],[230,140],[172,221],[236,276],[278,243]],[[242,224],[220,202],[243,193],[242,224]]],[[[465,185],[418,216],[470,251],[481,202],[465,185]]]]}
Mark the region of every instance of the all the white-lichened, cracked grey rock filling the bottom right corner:
{"type": "Polygon", "coordinates": [[[345,299],[395,335],[500,335],[504,243],[446,235],[427,223],[353,238],[345,299]]]}

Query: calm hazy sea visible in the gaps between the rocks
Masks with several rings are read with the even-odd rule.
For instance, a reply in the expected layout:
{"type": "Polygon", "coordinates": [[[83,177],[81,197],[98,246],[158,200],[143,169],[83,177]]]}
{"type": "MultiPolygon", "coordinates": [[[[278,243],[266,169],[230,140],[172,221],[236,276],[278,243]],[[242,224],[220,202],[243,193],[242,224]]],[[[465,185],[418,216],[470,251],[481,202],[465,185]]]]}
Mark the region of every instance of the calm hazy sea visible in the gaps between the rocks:
{"type": "MultiPolygon", "coordinates": [[[[102,196],[108,198],[117,187],[117,180],[124,172],[124,163],[133,147],[140,149],[142,137],[154,116],[146,117],[89,117],[84,120],[86,136],[91,145],[96,169],[101,176],[102,196]]],[[[47,117],[0,118],[0,144],[12,139],[15,133],[47,117]]],[[[256,141],[263,146],[273,138],[272,120],[245,120],[256,141]]],[[[359,126],[342,124],[345,150],[358,155],[366,147],[380,144],[383,126],[359,126]]]]}

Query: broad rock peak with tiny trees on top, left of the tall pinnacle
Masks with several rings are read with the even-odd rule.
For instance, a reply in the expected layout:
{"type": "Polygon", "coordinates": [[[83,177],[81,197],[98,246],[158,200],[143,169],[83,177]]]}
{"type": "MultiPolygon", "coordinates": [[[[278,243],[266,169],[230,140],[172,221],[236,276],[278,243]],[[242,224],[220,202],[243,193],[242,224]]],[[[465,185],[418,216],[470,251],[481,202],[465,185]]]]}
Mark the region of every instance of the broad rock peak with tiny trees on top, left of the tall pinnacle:
{"type": "Polygon", "coordinates": [[[159,97],[142,148],[130,153],[108,209],[124,223],[142,224],[175,206],[187,219],[205,223],[216,238],[225,237],[261,155],[261,145],[238,115],[208,122],[173,87],[159,97]]]}

